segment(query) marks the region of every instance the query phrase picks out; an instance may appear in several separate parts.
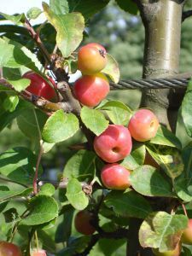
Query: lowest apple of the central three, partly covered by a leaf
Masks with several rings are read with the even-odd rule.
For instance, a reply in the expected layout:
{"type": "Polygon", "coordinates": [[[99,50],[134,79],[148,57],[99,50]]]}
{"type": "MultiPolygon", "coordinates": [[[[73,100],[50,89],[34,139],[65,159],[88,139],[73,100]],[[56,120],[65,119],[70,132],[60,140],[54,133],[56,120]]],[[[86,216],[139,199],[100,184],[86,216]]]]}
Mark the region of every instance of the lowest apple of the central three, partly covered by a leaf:
{"type": "Polygon", "coordinates": [[[102,183],[108,189],[125,190],[131,186],[129,170],[119,164],[108,164],[102,168],[102,183]]]}

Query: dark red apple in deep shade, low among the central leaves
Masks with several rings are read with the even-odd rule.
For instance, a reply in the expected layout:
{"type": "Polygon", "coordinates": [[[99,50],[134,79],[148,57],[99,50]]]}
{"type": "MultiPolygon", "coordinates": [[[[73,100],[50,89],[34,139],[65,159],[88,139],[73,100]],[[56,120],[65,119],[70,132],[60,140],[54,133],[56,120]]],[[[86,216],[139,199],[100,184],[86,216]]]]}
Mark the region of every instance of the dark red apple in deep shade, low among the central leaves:
{"type": "Polygon", "coordinates": [[[93,214],[89,211],[80,211],[74,218],[75,229],[86,236],[92,235],[96,229],[90,224],[93,219],[93,214]]]}

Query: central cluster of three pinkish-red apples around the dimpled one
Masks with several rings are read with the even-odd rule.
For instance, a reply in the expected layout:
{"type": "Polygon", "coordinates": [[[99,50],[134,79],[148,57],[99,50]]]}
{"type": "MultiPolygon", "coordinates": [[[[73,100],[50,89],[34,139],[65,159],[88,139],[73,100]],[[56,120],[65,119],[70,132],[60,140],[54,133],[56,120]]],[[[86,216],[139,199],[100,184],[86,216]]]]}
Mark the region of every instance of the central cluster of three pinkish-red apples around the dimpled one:
{"type": "Polygon", "coordinates": [[[118,161],[131,154],[132,138],[145,142],[156,135],[159,121],[148,109],[139,109],[130,119],[128,127],[108,125],[101,135],[95,137],[96,154],[107,164],[102,168],[102,183],[108,189],[124,190],[131,186],[131,171],[120,166],[118,161]]]}

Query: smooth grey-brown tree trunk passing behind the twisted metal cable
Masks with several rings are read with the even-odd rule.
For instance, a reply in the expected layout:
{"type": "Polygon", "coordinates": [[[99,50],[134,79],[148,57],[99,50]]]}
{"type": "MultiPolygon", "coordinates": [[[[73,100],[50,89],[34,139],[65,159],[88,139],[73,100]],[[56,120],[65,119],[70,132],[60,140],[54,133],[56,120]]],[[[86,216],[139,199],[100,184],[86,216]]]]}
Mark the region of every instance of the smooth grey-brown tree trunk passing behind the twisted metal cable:
{"type": "MultiPolygon", "coordinates": [[[[179,54],[183,1],[136,0],[145,27],[143,78],[174,77],[179,71],[179,54]]],[[[151,108],[160,123],[175,131],[177,110],[181,104],[181,90],[143,90],[141,107],[151,108]]],[[[138,242],[140,220],[131,220],[131,238],[127,255],[149,256],[151,250],[143,249],[138,242]],[[134,224],[135,222],[135,224],[134,224]],[[137,234],[136,234],[137,230],[137,234]]]]}

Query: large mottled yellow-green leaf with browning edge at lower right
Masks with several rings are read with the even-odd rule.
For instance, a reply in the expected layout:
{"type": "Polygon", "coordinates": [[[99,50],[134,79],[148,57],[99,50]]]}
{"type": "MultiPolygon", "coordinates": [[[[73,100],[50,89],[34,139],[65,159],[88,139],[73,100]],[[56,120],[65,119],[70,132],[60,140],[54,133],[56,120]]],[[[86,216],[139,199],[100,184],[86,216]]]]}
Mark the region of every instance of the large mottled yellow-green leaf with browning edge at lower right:
{"type": "Polygon", "coordinates": [[[139,230],[142,247],[159,248],[160,252],[173,250],[188,225],[184,215],[153,212],[143,221],[139,230]]]}

